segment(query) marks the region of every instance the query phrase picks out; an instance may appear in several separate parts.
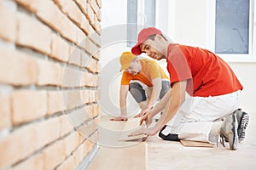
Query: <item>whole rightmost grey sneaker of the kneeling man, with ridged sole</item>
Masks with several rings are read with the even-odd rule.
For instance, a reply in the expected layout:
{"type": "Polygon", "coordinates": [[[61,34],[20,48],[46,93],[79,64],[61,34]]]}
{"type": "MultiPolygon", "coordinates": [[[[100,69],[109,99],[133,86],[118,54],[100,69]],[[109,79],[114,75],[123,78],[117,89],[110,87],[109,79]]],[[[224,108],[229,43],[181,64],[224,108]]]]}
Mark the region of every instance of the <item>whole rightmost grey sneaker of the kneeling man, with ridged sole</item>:
{"type": "Polygon", "coordinates": [[[247,124],[249,122],[249,115],[241,111],[241,109],[238,109],[234,111],[236,114],[236,119],[238,122],[238,128],[237,128],[237,133],[238,133],[238,141],[241,142],[242,140],[245,139],[245,132],[247,128],[247,124]]]}

